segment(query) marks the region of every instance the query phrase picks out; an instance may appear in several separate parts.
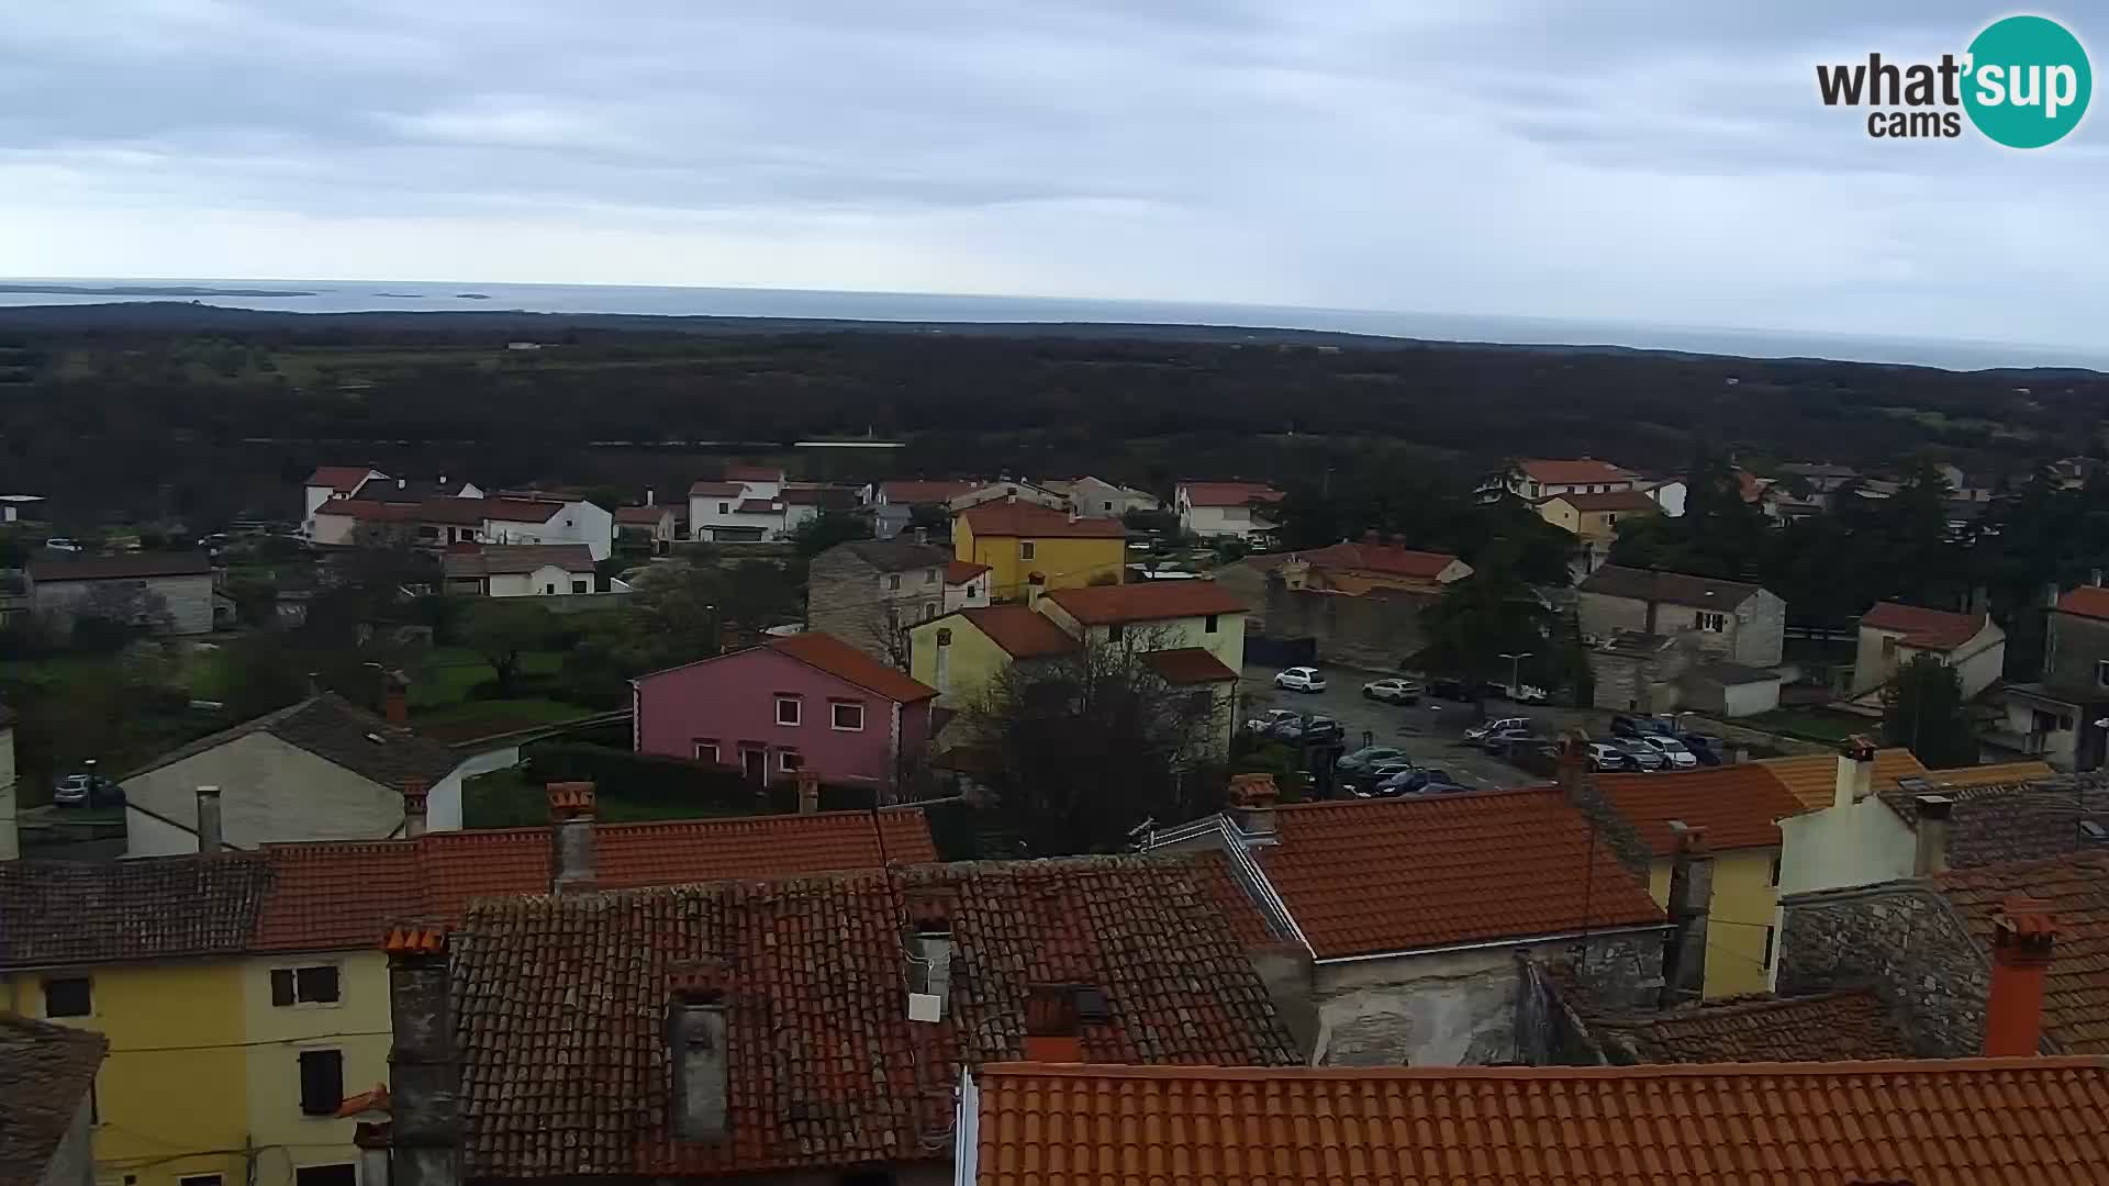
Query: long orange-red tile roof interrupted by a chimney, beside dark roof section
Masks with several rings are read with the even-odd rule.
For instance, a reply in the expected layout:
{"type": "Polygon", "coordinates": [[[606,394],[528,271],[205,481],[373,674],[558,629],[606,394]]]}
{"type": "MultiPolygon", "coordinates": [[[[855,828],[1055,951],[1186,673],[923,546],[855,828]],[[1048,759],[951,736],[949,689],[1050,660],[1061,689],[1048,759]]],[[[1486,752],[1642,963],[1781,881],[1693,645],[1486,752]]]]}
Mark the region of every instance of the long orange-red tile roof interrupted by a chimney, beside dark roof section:
{"type": "MultiPolygon", "coordinates": [[[[453,924],[470,899],[548,893],[550,829],[428,831],[418,840],[268,844],[276,884],[259,952],[371,948],[401,920],[453,924]]],[[[922,808],[599,823],[599,888],[795,878],[936,861],[922,808]],[[884,840],[882,840],[884,836],[884,840]]]]}

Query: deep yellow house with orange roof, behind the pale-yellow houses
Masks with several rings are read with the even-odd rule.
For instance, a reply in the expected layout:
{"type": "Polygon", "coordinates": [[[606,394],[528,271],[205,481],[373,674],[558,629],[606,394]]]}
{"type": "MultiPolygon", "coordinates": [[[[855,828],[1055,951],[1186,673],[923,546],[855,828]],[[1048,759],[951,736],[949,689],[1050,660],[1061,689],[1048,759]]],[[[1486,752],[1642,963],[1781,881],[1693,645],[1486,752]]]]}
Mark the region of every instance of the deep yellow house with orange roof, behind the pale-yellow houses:
{"type": "Polygon", "coordinates": [[[989,566],[991,601],[1118,585],[1126,547],[1120,519],[1080,519],[1031,502],[983,502],[951,519],[953,559],[989,566]]]}

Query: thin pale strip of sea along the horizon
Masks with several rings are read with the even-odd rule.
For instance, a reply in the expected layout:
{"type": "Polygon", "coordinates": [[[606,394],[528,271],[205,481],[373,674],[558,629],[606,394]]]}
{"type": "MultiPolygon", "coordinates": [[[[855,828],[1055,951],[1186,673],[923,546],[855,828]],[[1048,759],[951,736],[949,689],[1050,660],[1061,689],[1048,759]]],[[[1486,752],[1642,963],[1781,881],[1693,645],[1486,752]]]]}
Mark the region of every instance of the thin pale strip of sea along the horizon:
{"type": "Polygon", "coordinates": [[[0,306],[194,300],[280,312],[475,310],[635,312],[658,317],[789,317],[915,323],[1103,323],[1320,329],[1424,342],[1508,346],[1626,346],[1742,359],[1835,359],[1957,371],[2071,367],[2109,371],[2109,352],[2018,342],[1858,338],[1786,329],[1643,325],[1540,317],[1390,312],[1257,304],[1080,300],[968,293],[888,293],[759,287],[487,285],[424,281],[120,281],[0,279],[0,306]]]}

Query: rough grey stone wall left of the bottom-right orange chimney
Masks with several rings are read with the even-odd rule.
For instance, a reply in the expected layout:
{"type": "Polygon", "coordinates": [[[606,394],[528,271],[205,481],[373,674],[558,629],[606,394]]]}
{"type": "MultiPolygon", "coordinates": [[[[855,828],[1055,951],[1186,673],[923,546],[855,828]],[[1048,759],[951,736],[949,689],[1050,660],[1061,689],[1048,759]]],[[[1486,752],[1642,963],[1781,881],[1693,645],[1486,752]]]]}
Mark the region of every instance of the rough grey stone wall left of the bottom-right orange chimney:
{"type": "Polygon", "coordinates": [[[1991,969],[1968,929],[1917,882],[1788,897],[1776,988],[1793,996],[1871,986],[1909,1019],[1919,1057],[1985,1047],[1991,969]]]}

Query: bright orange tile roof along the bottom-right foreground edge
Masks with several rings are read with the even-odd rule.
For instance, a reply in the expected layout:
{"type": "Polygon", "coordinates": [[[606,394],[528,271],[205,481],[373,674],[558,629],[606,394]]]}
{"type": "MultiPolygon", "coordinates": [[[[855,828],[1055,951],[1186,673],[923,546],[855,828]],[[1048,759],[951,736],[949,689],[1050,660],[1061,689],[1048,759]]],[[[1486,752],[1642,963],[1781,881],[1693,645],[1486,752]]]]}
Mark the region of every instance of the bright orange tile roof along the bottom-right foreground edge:
{"type": "Polygon", "coordinates": [[[983,1068],[976,1186],[2067,1186],[2101,1059],[983,1068]]]}

